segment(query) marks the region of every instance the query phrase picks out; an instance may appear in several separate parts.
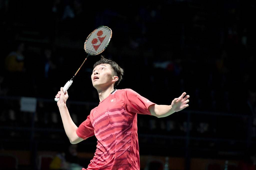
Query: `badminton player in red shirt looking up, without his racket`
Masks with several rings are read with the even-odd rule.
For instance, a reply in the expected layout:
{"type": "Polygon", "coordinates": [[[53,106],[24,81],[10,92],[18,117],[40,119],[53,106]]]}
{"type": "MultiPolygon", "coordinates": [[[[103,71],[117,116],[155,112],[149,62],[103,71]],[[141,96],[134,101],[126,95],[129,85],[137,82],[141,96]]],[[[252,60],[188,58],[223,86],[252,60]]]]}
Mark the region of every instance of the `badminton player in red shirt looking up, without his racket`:
{"type": "MultiPolygon", "coordinates": [[[[56,95],[65,132],[75,144],[93,135],[98,139],[92,169],[140,169],[137,113],[166,117],[188,107],[189,95],[175,98],[171,105],[157,105],[132,89],[115,89],[122,80],[123,69],[112,60],[101,60],[93,66],[92,85],[99,94],[99,105],[77,127],[71,120],[63,88],[56,95]]],[[[83,168],[84,169],[84,168],[83,168]]],[[[86,169],[84,169],[86,170],[86,169]]]]}

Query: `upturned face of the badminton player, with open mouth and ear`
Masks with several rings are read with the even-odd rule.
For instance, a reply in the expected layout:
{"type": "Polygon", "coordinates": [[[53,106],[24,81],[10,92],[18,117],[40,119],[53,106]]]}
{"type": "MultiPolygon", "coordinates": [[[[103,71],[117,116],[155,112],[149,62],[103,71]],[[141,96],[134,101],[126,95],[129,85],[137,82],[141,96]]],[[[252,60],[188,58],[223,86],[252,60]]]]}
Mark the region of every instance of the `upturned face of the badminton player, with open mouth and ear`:
{"type": "Polygon", "coordinates": [[[96,66],[91,75],[93,87],[96,89],[109,87],[113,82],[118,80],[118,76],[112,74],[112,67],[110,64],[100,64],[96,66]],[[94,79],[94,76],[97,76],[98,78],[94,79]]]}

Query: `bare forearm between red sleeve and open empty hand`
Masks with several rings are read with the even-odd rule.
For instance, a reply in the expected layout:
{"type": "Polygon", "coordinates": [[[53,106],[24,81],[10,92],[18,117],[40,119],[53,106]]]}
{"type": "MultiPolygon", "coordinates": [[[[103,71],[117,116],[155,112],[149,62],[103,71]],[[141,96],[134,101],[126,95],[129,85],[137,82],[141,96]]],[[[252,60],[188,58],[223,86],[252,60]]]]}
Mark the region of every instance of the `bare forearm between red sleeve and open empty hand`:
{"type": "Polygon", "coordinates": [[[158,105],[154,104],[150,106],[150,113],[156,117],[166,117],[173,114],[175,111],[171,105],[158,105]]]}

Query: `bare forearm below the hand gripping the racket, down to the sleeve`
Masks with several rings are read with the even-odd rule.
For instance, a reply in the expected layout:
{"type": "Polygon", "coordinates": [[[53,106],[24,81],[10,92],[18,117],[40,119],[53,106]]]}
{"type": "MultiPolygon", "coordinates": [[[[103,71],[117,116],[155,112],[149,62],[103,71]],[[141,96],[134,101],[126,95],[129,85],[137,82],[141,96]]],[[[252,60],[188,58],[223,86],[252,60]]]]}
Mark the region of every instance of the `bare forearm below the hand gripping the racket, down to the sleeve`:
{"type": "Polygon", "coordinates": [[[66,104],[63,104],[59,106],[60,116],[62,119],[62,123],[66,132],[66,135],[68,136],[70,142],[74,141],[77,138],[76,124],[72,121],[68,108],[66,104]]]}

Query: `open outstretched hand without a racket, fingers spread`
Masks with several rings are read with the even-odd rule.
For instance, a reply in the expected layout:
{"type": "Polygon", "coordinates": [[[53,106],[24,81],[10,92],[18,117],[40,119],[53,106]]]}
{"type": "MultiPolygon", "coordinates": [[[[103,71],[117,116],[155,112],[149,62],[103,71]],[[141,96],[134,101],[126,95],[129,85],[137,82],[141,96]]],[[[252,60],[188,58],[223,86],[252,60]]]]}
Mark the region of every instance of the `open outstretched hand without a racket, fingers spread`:
{"type": "Polygon", "coordinates": [[[186,107],[188,107],[188,98],[189,98],[189,95],[187,95],[186,97],[184,97],[186,95],[186,92],[182,93],[182,95],[178,98],[175,98],[173,101],[172,101],[172,109],[175,111],[175,112],[178,112],[178,111],[181,111],[183,109],[185,109],[186,107]]]}

